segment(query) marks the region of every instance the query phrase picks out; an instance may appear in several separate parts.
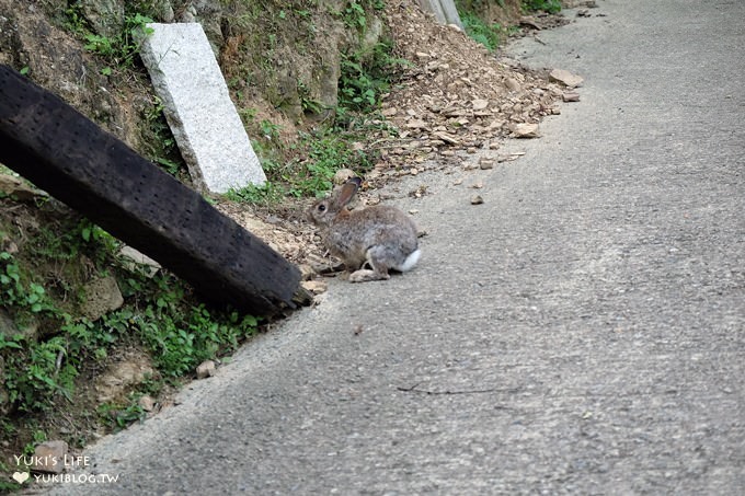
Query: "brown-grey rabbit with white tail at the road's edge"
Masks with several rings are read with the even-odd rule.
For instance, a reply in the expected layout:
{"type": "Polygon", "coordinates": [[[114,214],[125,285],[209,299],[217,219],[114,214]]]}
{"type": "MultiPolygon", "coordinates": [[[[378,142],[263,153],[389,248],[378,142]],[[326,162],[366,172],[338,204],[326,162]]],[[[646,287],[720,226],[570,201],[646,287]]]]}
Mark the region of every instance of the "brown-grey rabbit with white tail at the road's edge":
{"type": "Polygon", "coordinates": [[[411,270],[421,255],[414,221],[386,205],[349,211],[347,205],[360,184],[359,177],[349,178],[337,194],[311,206],[308,220],[320,228],[329,251],[344,262],[351,282],[389,279],[389,269],[411,270]]]}

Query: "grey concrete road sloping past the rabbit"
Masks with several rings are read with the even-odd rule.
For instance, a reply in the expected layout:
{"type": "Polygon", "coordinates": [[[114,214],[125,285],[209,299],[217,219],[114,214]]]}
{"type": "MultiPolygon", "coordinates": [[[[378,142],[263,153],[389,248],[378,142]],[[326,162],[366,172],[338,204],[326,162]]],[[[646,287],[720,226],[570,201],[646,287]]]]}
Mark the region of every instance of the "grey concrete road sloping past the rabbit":
{"type": "Polygon", "coordinates": [[[598,4],[512,49],[585,78],[523,159],[400,185],[420,267],[334,281],[54,494],[742,494],[745,2],[598,4]]]}

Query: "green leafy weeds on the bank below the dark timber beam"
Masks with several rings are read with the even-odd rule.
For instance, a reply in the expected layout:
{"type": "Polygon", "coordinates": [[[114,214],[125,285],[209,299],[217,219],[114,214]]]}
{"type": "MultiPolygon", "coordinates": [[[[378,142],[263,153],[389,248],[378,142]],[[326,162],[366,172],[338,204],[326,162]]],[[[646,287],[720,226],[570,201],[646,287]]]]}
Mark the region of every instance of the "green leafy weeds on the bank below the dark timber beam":
{"type": "Polygon", "coordinates": [[[202,360],[236,349],[255,331],[257,321],[252,316],[195,304],[185,284],[171,275],[161,273],[150,279],[144,272],[117,268],[114,238],[88,220],[71,226],[57,237],[41,230],[46,242],[58,243],[38,247],[36,259],[68,259],[85,253],[89,259],[99,261],[96,266],[126,274],[119,280],[130,304],[96,322],[74,318],[42,282],[31,278],[20,261],[0,252],[0,304],[16,321],[24,314],[34,316],[38,327],[35,333],[0,334],[3,389],[14,411],[46,412],[58,399],[71,400],[83,365],[104,359],[121,336],[139,338],[153,353],[161,372],[175,378],[202,360]]]}

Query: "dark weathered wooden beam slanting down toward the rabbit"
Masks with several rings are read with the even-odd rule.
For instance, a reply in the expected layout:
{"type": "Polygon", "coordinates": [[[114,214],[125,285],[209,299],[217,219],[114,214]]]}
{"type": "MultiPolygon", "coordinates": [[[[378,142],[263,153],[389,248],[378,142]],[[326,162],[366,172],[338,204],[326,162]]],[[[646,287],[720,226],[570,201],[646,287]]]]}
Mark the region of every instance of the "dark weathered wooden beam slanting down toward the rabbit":
{"type": "Polygon", "coordinates": [[[211,301],[254,314],[295,307],[295,265],[61,99],[1,65],[0,162],[211,301]]]}

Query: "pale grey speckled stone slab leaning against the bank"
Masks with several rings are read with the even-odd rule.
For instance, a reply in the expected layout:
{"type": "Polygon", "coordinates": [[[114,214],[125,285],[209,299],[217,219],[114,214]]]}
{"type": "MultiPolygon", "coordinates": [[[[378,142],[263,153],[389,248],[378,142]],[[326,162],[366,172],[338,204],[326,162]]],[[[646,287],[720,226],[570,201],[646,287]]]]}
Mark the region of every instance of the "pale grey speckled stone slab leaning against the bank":
{"type": "Polygon", "coordinates": [[[261,185],[266,176],[198,23],[148,24],[140,56],[198,187],[261,185]]]}

